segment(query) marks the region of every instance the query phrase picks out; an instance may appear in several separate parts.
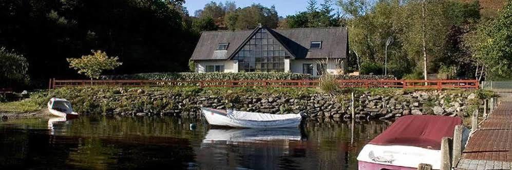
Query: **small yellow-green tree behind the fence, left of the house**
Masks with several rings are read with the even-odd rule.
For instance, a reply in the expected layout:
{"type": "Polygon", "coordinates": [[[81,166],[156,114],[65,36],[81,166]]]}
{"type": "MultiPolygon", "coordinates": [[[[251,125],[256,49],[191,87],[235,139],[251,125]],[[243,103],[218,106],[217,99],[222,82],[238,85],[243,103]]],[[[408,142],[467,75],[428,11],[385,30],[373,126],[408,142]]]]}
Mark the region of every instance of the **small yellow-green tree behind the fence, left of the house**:
{"type": "Polygon", "coordinates": [[[92,55],[83,55],[82,58],[67,58],[69,68],[89,77],[91,83],[92,79],[99,78],[104,70],[113,70],[123,64],[118,62],[118,57],[109,57],[101,50],[91,50],[91,52],[92,55]]]}

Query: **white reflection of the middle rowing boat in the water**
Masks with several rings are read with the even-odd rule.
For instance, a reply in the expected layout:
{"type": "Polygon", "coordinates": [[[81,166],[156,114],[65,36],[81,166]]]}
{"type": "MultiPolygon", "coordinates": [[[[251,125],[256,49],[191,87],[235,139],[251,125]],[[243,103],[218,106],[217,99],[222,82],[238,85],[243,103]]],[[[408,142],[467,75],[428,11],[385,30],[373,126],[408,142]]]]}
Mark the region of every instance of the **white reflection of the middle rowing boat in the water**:
{"type": "Polygon", "coordinates": [[[212,142],[258,142],[274,140],[300,140],[300,130],[297,128],[278,129],[211,129],[206,134],[203,143],[212,142]]]}

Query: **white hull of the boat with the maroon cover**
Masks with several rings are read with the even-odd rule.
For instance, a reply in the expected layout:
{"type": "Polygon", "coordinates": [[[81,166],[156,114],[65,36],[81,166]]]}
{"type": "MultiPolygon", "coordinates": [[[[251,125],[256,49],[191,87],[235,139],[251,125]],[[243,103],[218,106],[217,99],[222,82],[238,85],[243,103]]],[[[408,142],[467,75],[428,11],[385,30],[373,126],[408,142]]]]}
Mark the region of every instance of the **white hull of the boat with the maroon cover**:
{"type": "Polygon", "coordinates": [[[359,152],[357,160],[411,168],[426,163],[432,165],[432,169],[440,169],[441,151],[415,146],[367,144],[359,152]]]}

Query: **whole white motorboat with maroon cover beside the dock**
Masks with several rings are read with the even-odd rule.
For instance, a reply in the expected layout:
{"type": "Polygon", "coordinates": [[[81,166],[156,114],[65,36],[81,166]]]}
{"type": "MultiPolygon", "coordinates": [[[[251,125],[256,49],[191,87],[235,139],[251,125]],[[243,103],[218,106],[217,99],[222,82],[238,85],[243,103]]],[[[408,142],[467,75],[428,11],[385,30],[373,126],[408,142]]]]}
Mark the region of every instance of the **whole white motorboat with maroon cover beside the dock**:
{"type": "MultiPolygon", "coordinates": [[[[417,169],[420,163],[441,168],[441,140],[453,137],[458,117],[409,115],[397,119],[386,131],[363,147],[359,169],[417,169]]],[[[463,145],[469,131],[464,128],[463,145]]]]}

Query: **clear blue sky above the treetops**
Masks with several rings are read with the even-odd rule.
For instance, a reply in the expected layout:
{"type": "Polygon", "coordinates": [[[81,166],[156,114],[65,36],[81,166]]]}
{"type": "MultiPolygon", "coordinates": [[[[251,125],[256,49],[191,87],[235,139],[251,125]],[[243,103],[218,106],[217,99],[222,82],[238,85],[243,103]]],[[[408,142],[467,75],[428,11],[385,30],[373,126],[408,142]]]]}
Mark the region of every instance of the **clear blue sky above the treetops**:
{"type": "MultiPolygon", "coordinates": [[[[186,0],[185,7],[187,8],[190,15],[194,15],[194,11],[203,9],[204,5],[210,3],[211,1],[212,0],[186,0]]],[[[225,1],[214,2],[224,3],[225,1]]],[[[236,3],[237,7],[250,6],[253,3],[261,4],[269,8],[270,6],[275,5],[277,14],[279,16],[293,15],[300,11],[306,11],[306,7],[308,6],[308,0],[237,0],[234,2],[236,3]]],[[[323,1],[318,1],[318,4],[321,2],[323,1]]]]}

